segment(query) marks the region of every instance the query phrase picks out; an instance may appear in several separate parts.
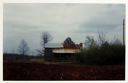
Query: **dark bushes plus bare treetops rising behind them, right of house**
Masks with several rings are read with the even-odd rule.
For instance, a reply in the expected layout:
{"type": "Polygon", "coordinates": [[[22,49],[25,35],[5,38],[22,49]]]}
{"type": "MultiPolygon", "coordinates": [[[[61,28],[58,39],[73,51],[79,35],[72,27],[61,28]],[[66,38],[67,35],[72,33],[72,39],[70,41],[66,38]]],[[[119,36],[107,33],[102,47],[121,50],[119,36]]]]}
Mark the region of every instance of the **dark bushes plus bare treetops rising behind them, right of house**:
{"type": "Polygon", "coordinates": [[[84,65],[114,65],[125,64],[125,45],[119,39],[108,42],[105,34],[98,35],[97,42],[93,37],[87,36],[87,48],[75,54],[76,63],[84,65]]]}

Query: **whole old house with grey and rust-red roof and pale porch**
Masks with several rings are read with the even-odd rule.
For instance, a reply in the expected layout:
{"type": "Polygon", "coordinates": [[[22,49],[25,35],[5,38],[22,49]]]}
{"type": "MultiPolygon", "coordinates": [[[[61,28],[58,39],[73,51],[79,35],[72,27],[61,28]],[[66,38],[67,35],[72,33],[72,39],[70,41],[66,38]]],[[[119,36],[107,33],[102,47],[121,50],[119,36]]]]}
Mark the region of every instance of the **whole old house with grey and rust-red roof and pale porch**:
{"type": "Polygon", "coordinates": [[[74,54],[79,53],[82,48],[80,44],[57,44],[47,43],[45,45],[45,57],[54,60],[72,60],[74,54]]]}

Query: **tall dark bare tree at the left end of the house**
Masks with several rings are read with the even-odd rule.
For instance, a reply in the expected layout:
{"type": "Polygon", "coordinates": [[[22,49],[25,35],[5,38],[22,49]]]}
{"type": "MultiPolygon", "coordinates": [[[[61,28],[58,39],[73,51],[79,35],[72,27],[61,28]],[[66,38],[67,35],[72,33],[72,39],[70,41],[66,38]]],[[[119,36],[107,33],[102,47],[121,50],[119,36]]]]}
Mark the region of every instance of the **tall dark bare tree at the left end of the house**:
{"type": "Polygon", "coordinates": [[[41,45],[42,45],[42,53],[45,53],[45,44],[51,41],[53,37],[48,32],[43,32],[41,35],[41,45]]]}

